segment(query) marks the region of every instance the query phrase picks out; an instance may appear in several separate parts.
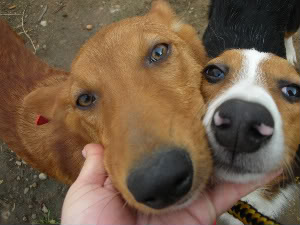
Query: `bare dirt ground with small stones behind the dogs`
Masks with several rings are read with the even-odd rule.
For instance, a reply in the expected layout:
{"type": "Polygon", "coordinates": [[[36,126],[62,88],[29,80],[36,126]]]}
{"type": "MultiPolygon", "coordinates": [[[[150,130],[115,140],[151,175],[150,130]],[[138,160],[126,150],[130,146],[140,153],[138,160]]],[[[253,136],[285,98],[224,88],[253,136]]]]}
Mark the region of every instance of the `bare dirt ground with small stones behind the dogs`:
{"type": "MultiPolygon", "coordinates": [[[[21,18],[26,9],[24,28],[37,49],[36,54],[52,66],[69,70],[80,46],[97,30],[122,18],[145,13],[150,3],[151,0],[0,0],[0,17],[33,50],[22,33],[21,18]],[[92,29],[88,30],[87,25],[92,25],[92,29]]],[[[170,3],[202,35],[208,0],[170,0],[170,3]]],[[[16,158],[2,142],[0,165],[0,224],[59,222],[67,186],[50,178],[41,180],[38,171],[16,158]]]]}

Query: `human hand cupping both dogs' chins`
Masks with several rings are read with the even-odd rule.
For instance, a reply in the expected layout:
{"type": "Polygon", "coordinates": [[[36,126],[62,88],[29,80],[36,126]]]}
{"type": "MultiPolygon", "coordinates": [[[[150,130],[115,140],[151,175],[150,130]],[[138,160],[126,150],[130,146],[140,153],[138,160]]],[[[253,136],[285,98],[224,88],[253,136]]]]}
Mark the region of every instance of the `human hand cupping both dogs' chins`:
{"type": "Polygon", "coordinates": [[[213,224],[239,199],[280,174],[273,173],[256,183],[218,184],[182,210],[144,215],[128,207],[112,186],[103,166],[100,145],[85,146],[83,155],[84,166],[64,200],[62,224],[213,224]]]}

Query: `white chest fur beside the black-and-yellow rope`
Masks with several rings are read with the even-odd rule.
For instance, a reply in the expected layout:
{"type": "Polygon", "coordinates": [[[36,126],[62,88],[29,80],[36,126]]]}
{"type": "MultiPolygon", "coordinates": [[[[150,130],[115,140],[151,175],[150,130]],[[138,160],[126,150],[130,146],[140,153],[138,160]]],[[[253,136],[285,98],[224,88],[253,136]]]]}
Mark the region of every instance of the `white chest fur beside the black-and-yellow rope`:
{"type": "MultiPolygon", "coordinates": [[[[295,197],[299,196],[298,186],[293,184],[287,186],[285,189],[282,188],[281,192],[270,201],[261,197],[261,193],[263,191],[263,189],[258,189],[242,198],[242,200],[251,204],[263,215],[268,216],[277,222],[282,222],[280,221],[280,217],[283,215],[285,210],[288,209],[288,206],[294,205],[298,200],[297,197],[295,197]]],[[[235,219],[230,214],[224,213],[220,216],[217,224],[242,225],[243,223],[235,219]]]]}

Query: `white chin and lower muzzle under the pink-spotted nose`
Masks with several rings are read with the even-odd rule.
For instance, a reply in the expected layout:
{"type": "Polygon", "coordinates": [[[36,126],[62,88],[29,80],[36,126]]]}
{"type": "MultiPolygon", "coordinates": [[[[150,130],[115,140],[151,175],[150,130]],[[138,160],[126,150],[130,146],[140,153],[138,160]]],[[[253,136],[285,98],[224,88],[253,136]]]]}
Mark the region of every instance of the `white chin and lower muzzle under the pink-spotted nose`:
{"type": "Polygon", "coordinates": [[[213,135],[209,135],[215,162],[217,181],[249,183],[258,181],[282,166],[282,148],[279,144],[263,146],[254,153],[233,153],[221,146],[213,135]]]}

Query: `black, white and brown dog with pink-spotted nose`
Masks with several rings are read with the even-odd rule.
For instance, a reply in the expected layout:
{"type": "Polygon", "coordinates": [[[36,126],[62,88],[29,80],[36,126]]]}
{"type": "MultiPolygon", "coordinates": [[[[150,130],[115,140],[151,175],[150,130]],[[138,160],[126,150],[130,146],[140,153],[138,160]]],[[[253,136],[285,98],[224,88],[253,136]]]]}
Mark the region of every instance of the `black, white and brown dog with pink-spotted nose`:
{"type": "MultiPolygon", "coordinates": [[[[281,177],[243,199],[276,220],[300,196],[293,179],[299,173],[300,77],[291,65],[299,4],[214,0],[203,38],[214,58],[203,70],[202,93],[216,175],[245,183],[283,168],[281,177]]],[[[229,214],[219,223],[241,224],[229,214]]]]}

